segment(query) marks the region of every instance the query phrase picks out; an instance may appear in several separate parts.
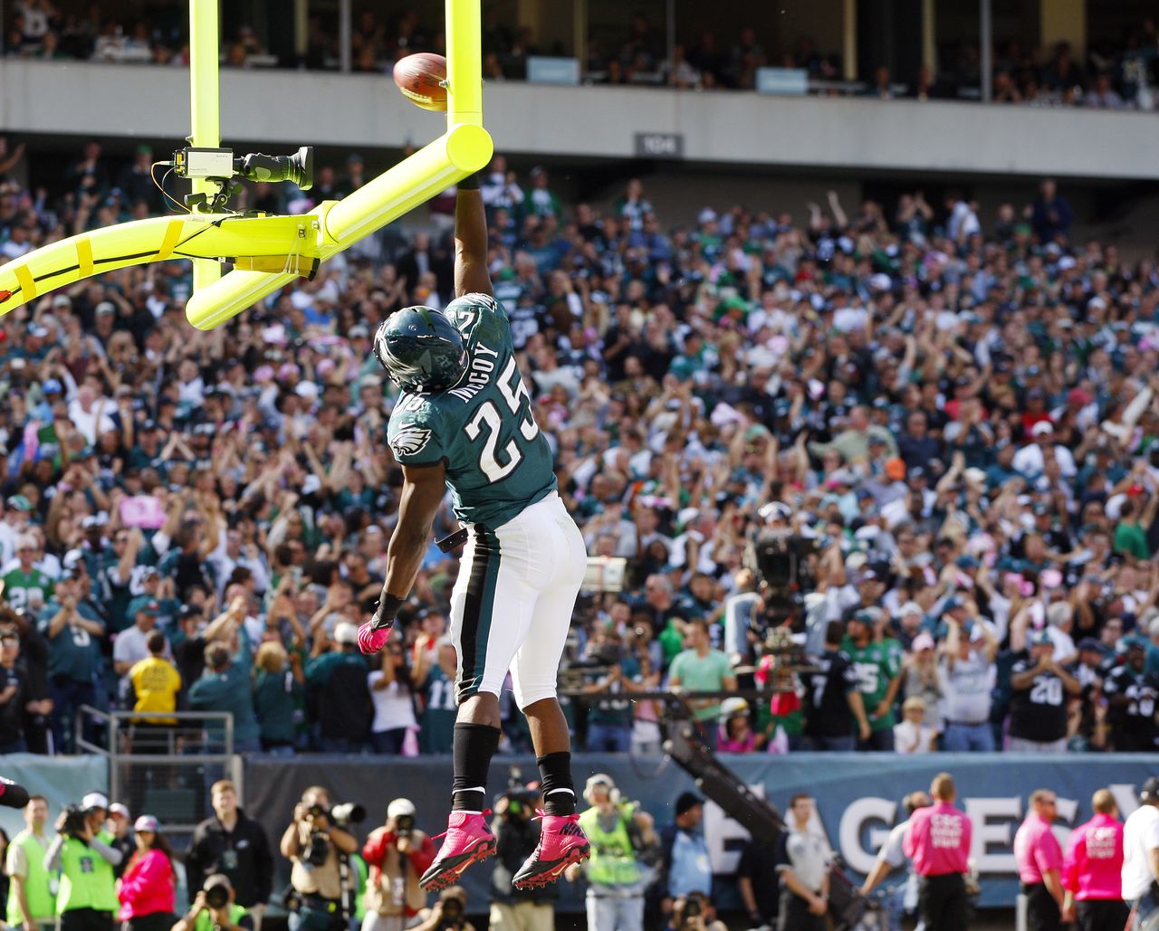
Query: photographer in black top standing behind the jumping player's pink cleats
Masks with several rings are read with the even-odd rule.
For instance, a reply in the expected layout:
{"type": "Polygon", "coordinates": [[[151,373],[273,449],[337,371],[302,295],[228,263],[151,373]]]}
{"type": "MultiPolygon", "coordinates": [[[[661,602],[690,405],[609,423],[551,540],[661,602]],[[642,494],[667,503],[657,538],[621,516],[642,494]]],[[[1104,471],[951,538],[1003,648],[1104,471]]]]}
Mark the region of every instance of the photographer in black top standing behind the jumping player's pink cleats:
{"type": "Polygon", "coordinates": [[[539,844],[535,809],[542,807],[538,789],[523,784],[523,775],[512,767],[508,790],[495,801],[495,853],[498,863],[491,873],[489,931],[553,931],[559,897],[555,884],[517,889],[512,879],[539,844]]]}

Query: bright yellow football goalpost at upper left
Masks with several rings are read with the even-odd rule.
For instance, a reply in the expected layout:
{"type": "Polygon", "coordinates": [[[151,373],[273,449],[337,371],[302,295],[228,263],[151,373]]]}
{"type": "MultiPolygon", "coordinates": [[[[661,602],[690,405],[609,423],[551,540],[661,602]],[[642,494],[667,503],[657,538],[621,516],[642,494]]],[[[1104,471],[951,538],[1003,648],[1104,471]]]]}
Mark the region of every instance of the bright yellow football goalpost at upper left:
{"type": "MultiPolygon", "coordinates": [[[[446,0],[446,132],[342,200],[326,200],[300,217],[229,213],[220,195],[240,174],[220,148],[218,0],[190,0],[189,169],[201,153],[225,166],[192,173],[202,196],[190,213],[136,220],[71,236],[0,265],[0,315],[101,272],[189,258],[194,293],[189,322],[209,330],[231,320],[321,262],[353,245],[483,168],[491,138],[482,125],[483,80],[480,0],[446,0]],[[221,274],[221,263],[233,270],[221,274]]],[[[178,157],[182,153],[178,153],[178,157]]],[[[262,156],[265,157],[265,156],[262,156]]],[[[241,161],[241,160],[236,160],[241,161]]],[[[279,160],[291,162],[292,160],[279,160]]],[[[207,162],[209,163],[209,162],[207,162]]]]}

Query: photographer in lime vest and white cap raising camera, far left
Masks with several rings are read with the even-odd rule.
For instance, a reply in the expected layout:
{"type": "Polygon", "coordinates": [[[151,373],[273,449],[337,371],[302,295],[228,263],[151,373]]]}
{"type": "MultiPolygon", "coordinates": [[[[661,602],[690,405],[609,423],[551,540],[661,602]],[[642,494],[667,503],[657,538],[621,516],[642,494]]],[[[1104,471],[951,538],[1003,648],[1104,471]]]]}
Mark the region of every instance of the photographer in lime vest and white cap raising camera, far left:
{"type": "Polygon", "coordinates": [[[103,830],[109,800],[89,792],[57,819],[57,836],[44,855],[44,868],[60,873],[57,893],[59,931],[111,931],[117,901],[114,867],[122,860],[112,835],[103,830]]]}

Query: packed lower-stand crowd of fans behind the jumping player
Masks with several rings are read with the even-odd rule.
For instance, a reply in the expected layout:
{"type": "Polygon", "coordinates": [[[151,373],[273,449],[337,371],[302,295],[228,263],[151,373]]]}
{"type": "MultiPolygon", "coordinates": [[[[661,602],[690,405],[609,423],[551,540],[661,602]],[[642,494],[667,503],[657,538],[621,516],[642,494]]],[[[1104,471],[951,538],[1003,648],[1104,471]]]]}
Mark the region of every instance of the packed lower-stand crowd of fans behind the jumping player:
{"type": "MultiPolygon", "coordinates": [[[[23,156],[0,141],[0,261],[156,207],[147,153],[117,171],[89,144],[51,193],[23,156]]],[[[347,168],[308,198],[358,186],[347,168]]],[[[985,226],[920,192],[673,225],[635,179],[600,214],[502,156],[482,188],[561,493],[589,554],[626,560],[574,622],[580,688],[622,696],[573,705],[588,747],[658,747],[659,705],[628,692],[750,676],[785,694],[698,703],[705,740],[1154,747],[1154,261],[1073,242],[1051,181],[985,226]],[[766,538],[801,551],[789,574],[746,559],[766,538]]],[[[371,336],[450,298],[443,210],[209,332],[181,263],[5,316],[0,752],[72,749],[81,704],[227,711],[243,752],[450,748],[457,558],[431,547],[381,658],[355,644],[401,484],[371,336]]]]}

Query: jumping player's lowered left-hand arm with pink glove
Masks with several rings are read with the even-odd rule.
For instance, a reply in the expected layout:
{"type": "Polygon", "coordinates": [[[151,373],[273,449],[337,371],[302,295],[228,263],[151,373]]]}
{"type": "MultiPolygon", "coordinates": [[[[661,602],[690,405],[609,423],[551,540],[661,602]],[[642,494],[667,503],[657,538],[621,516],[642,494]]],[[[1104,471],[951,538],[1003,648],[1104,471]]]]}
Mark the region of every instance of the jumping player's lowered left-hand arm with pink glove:
{"type": "Polygon", "coordinates": [[[386,551],[386,581],[373,620],[358,630],[363,653],[377,653],[389,637],[391,625],[414,587],[415,577],[430,544],[431,525],[446,494],[446,467],[403,465],[399,522],[386,551]]]}

